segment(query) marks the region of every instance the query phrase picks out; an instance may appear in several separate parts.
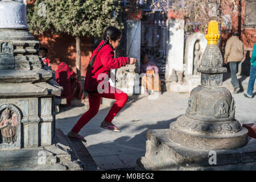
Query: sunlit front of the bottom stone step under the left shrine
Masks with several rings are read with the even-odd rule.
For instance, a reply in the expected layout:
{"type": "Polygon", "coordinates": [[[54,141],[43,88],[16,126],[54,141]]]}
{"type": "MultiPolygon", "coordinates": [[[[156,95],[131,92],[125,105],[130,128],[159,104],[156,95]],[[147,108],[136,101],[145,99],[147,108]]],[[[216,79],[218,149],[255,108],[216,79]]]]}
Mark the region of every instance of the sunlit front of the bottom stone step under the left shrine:
{"type": "Polygon", "coordinates": [[[52,152],[44,150],[44,148],[6,150],[0,152],[0,167],[27,167],[55,163],[57,163],[57,157],[52,152]]]}

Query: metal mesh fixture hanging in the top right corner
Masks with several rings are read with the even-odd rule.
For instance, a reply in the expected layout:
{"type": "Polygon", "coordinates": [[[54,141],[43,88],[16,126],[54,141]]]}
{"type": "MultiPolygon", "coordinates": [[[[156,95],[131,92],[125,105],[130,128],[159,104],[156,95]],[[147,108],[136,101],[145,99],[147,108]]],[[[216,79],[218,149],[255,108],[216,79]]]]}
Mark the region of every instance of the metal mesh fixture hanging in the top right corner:
{"type": "Polygon", "coordinates": [[[246,27],[256,26],[256,0],[245,1],[245,24],[246,27]]]}

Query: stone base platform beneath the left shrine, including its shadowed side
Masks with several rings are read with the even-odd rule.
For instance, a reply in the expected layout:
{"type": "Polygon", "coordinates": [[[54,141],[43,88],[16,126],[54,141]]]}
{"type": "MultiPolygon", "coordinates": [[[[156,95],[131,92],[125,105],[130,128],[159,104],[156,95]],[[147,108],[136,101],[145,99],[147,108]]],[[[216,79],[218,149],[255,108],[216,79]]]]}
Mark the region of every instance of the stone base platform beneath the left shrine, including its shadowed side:
{"type": "Polygon", "coordinates": [[[95,171],[97,164],[85,146],[56,129],[51,146],[0,151],[0,171],[95,171]]]}

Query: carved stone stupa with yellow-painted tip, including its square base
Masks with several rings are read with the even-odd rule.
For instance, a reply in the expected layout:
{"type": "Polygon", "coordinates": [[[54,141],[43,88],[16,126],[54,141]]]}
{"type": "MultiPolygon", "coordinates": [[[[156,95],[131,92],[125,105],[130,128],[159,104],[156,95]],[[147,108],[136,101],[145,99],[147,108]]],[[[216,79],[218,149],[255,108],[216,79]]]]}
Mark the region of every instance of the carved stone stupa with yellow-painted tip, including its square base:
{"type": "Polygon", "coordinates": [[[191,91],[184,115],[170,129],[148,130],[146,154],[137,160],[146,170],[255,170],[256,139],[235,119],[235,101],[222,87],[223,60],[218,22],[210,21],[201,64],[201,85],[191,91]]]}

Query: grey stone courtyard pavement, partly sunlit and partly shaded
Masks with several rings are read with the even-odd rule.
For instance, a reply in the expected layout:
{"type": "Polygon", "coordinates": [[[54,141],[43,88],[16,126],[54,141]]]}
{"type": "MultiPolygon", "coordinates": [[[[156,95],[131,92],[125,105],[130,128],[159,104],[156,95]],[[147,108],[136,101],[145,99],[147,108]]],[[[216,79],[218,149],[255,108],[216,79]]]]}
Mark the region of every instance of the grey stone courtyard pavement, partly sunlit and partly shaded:
{"type": "MultiPolygon", "coordinates": [[[[233,92],[233,90],[231,90],[233,92]]],[[[254,93],[255,94],[255,93],[254,93]]],[[[256,123],[256,97],[249,99],[243,93],[233,95],[236,101],[236,119],[242,123],[256,123]]],[[[123,169],[136,167],[136,160],[146,152],[146,131],[148,129],[169,129],[172,121],[185,113],[189,93],[164,92],[156,100],[148,96],[129,96],[123,109],[115,116],[113,123],[121,133],[100,127],[110,110],[101,104],[100,110],[79,134],[87,140],[90,154],[100,169],[123,169]]],[[[88,106],[64,107],[56,114],[56,128],[67,134],[88,106]]]]}

